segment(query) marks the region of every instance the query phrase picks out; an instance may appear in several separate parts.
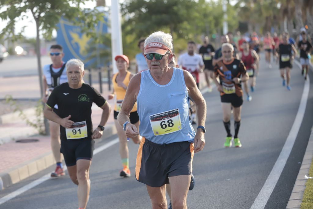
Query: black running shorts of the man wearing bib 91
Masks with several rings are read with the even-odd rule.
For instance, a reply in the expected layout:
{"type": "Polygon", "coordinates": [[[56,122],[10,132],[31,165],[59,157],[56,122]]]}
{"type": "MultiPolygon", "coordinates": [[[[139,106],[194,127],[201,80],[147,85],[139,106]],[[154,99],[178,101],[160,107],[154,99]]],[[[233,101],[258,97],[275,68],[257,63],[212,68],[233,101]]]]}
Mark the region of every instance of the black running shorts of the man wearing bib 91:
{"type": "Polygon", "coordinates": [[[79,159],[91,160],[94,154],[95,140],[61,140],[61,153],[64,156],[66,166],[76,165],[79,159]]]}

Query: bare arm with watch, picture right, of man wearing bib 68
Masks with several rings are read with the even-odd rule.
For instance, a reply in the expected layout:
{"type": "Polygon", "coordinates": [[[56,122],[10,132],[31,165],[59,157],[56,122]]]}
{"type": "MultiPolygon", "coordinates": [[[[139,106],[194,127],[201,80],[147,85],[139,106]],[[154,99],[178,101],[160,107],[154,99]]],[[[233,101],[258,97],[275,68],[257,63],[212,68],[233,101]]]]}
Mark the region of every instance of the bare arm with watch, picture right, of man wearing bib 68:
{"type": "MultiPolygon", "coordinates": [[[[198,126],[205,126],[205,119],[207,115],[207,105],[206,102],[199,91],[195,80],[192,75],[188,71],[183,71],[184,79],[188,91],[189,97],[195,103],[196,106],[196,114],[198,118],[198,126]]],[[[199,128],[196,132],[194,138],[194,151],[199,152],[203,149],[205,145],[204,133],[201,128],[199,128]]]]}

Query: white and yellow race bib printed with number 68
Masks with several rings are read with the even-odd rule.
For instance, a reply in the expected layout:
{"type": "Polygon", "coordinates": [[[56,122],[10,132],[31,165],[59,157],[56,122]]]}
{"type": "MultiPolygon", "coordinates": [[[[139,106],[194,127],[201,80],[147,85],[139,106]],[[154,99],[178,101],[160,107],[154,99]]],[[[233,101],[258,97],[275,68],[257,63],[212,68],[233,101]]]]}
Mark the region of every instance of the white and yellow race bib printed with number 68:
{"type": "Polygon", "coordinates": [[[178,109],[150,115],[150,124],[155,136],[174,133],[182,129],[178,109]]]}

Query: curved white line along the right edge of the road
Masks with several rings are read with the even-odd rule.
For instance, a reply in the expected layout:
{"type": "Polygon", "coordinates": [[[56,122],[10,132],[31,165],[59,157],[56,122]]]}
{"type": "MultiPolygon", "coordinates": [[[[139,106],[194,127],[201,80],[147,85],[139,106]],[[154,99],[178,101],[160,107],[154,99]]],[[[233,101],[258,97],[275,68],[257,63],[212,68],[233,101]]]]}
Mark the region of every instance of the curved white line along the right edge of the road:
{"type": "MultiPolygon", "coordinates": [[[[294,60],[294,63],[296,63],[298,66],[300,65],[299,62],[294,60]]],[[[301,69],[301,66],[300,66],[301,69]]],[[[290,155],[291,149],[295,143],[295,139],[297,138],[303,116],[305,113],[305,107],[308,100],[310,90],[310,78],[308,76],[307,81],[304,83],[304,88],[302,92],[302,97],[299,105],[299,109],[297,112],[297,115],[295,117],[295,121],[291,127],[291,130],[289,132],[289,135],[286,139],[286,142],[284,144],[283,149],[280,152],[280,155],[278,156],[278,159],[270,172],[269,176],[267,177],[261,191],[259,192],[259,195],[256,197],[253,205],[251,206],[251,209],[261,209],[264,208],[267,201],[269,200],[270,195],[272,194],[275,185],[281,175],[281,172],[283,171],[286,161],[290,155]]]]}

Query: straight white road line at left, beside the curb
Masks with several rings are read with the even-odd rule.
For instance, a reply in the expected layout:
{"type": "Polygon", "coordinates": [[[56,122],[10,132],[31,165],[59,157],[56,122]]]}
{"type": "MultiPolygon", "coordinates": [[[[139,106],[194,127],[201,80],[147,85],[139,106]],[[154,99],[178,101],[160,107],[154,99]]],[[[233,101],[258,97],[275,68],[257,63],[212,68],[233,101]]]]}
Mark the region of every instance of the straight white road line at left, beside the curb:
{"type": "MultiPolygon", "coordinates": [[[[119,139],[115,138],[115,139],[111,140],[110,142],[103,144],[102,146],[100,146],[94,150],[94,155],[98,154],[99,152],[101,152],[105,149],[108,149],[110,146],[113,146],[114,144],[118,143],[118,141],[119,141],[119,139]]],[[[64,166],[64,171],[65,170],[67,170],[66,166],[64,166]]],[[[11,192],[10,194],[8,194],[8,195],[6,195],[0,199],[0,205],[5,203],[6,201],[13,199],[14,197],[16,197],[18,195],[24,193],[25,191],[32,189],[33,187],[43,183],[44,181],[49,180],[50,178],[51,178],[50,174],[46,174],[46,175],[40,177],[39,179],[36,179],[36,180],[32,181],[31,183],[11,192]]]]}

